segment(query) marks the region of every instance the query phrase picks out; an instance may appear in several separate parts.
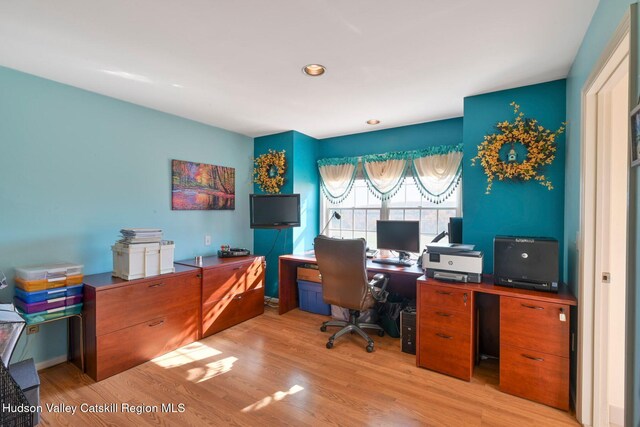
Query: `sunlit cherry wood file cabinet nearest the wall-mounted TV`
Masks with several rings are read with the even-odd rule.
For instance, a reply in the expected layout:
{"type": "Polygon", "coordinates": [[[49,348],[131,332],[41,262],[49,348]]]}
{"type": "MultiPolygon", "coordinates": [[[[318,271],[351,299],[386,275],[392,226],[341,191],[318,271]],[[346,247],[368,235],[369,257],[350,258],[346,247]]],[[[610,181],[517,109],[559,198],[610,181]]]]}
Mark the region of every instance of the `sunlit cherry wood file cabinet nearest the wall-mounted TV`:
{"type": "Polygon", "coordinates": [[[264,313],[264,258],[204,257],[202,264],[202,337],[220,332],[264,313]]]}

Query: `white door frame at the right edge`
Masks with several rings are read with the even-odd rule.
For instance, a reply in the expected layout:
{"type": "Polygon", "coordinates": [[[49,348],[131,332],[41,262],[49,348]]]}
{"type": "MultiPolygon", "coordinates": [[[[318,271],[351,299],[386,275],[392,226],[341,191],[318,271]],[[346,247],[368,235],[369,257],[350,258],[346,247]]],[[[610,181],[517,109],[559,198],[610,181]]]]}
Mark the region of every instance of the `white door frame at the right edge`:
{"type": "MultiPolygon", "coordinates": [[[[600,325],[594,322],[596,315],[596,160],[598,140],[598,92],[620,64],[628,60],[630,41],[630,15],[627,12],[611,42],[603,52],[582,89],[582,159],[580,164],[580,228],[577,236],[579,257],[578,281],[578,373],[576,392],[576,416],[584,425],[592,425],[601,419],[600,371],[594,363],[601,359],[596,342],[600,325]]],[[[631,76],[630,76],[631,78],[631,76]]]]}

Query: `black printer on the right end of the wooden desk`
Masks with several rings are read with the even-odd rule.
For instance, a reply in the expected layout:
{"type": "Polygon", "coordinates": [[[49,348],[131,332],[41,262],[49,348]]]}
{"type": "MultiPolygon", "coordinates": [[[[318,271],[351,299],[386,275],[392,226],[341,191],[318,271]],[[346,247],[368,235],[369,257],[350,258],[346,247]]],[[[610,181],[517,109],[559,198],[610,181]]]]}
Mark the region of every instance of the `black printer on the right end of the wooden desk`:
{"type": "Polygon", "coordinates": [[[559,268],[556,239],[496,236],[493,240],[496,285],[558,292],[559,268]]]}

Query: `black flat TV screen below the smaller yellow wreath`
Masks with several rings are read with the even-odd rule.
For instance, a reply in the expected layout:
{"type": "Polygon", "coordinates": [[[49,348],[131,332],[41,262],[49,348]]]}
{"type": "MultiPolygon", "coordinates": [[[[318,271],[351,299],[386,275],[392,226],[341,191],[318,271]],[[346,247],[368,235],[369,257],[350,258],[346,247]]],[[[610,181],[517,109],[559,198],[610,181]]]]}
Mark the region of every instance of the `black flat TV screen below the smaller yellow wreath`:
{"type": "Polygon", "coordinates": [[[251,228],[300,226],[299,194],[252,194],[251,228]]]}

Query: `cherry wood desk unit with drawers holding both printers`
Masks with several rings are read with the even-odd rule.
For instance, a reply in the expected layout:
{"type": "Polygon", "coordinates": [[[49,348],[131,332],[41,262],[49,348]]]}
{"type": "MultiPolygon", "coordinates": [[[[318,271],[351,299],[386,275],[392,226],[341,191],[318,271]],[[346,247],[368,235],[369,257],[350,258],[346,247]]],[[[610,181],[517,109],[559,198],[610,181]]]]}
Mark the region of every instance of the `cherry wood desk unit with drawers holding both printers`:
{"type": "Polygon", "coordinates": [[[476,296],[493,294],[500,310],[493,331],[500,337],[500,390],[569,409],[570,308],[577,301],[566,286],[555,294],[423,276],[416,292],[418,366],[470,381],[484,327],[476,320],[476,296]]]}

